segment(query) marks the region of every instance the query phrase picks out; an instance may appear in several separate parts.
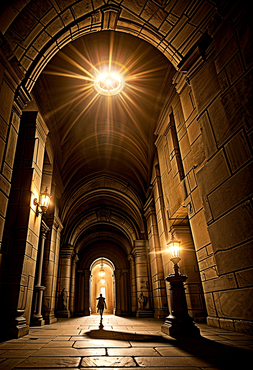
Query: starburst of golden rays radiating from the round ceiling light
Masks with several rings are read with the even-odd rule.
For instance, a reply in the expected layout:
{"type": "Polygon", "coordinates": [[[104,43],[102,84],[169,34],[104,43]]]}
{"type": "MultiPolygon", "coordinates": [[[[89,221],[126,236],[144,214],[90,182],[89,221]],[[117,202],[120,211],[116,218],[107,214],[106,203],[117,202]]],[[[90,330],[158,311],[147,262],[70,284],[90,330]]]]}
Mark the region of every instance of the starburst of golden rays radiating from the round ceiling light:
{"type": "MultiPolygon", "coordinates": [[[[119,112],[122,111],[122,113],[125,112],[125,114],[127,114],[129,120],[134,124],[135,129],[139,132],[146,144],[148,140],[140,125],[137,115],[139,116],[139,111],[142,110],[142,117],[145,120],[149,120],[150,117],[148,117],[144,105],[141,107],[136,104],[135,100],[141,95],[142,101],[145,102],[146,106],[150,103],[152,104],[152,91],[146,87],[148,86],[146,85],[146,81],[155,80],[159,74],[161,75],[161,67],[149,67],[149,69],[145,71],[143,68],[145,65],[148,65],[148,63],[149,66],[156,65],[155,56],[150,58],[148,50],[141,50],[141,48],[138,47],[131,55],[127,56],[125,62],[122,62],[123,64],[117,64],[117,61],[113,60],[113,54],[115,54],[114,33],[112,33],[110,37],[108,60],[105,60],[104,62],[103,58],[101,58],[101,61],[98,63],[99,50],[97,50],[97,55],[94,55],[95,59],[97,59],[97,63],[94,63],[94,60],[91,59],[91,54],[88,53],[84,42],[84,52],[86,50],[89,60],[85,58],[85,56],[73,45],[70,45],[69,47],[72,51],[72,57],[64,54],[62,51],[60,52],[60,57],[67,62],[67,64],[72,65],[74,69],[72,67],[67,69],[66,64],[64,66],[65,68],[57,65],[52,66],[51,70],[44,71],[44,73],[48,75],[80,80],[79,85],[71,85],[65,88],[64,101],[61,101],[61,104],[58,104],[58,107],[56,107],[57,111],[62,111],[64,107],[68,106],[67,112],[62,111],[62,116],[60,117],[64,120],[65,116],[65,121],[69,121],[67,125],[64,125],[65,127],[62,127],[61,143],[65,141],[68,133],[80,117],[82,116],[84,118],[84,115],[90,111],[94,104],[97,104],[95,115],[98,115],[99,117],[99,110],[100,107],[102,107],[101,104],[103,104],[108,117],[112,117],[115,105],[114,108],[112,108],[112,100],[110,99],[110,96],[118,94],[119,98],[113,104],[117,104],[119,112]],[[142,60],[145,62],[141,63],[142,60]],[[73,70],[71,71],[71,69],[73,70]],[[105,98],[101,95],[107,96],[108,99],[104,100],[105,98]],[[85,106],[83,105],[84,103],[85,106]],[[78,106],[80,106],[81,109],[77,112],[77,115],[73,120],[71,118],[71,114],[78,106]]],[[[122,48],[124,48],[123,44],[117,45],[117,53],[114,55],[114,59],[116,57],[117,60],[118,57],[120,60],[122,48]]],[[[60,89],[61,87],[58,88],[59,92],[61,92],[60,89]]],[[[109,127],[107,128],[107,131],[109,134],[109,127]]]]}

